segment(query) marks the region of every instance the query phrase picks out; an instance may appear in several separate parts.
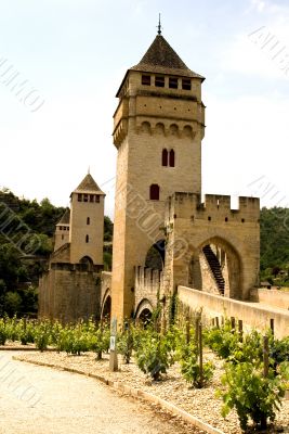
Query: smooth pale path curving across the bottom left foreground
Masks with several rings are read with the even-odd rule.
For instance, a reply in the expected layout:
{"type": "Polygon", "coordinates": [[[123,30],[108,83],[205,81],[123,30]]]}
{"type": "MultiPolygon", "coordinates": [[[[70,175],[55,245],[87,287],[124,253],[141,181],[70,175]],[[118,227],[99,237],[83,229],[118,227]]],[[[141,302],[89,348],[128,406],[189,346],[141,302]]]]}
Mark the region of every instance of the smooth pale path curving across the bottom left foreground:
{"type": "Polygon", "coordinates": [[[202,433],[93,379],[22,363],[13,355],[21,353],[0,354],[1,434],[202,433]]]}

